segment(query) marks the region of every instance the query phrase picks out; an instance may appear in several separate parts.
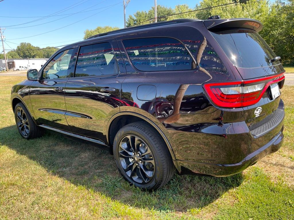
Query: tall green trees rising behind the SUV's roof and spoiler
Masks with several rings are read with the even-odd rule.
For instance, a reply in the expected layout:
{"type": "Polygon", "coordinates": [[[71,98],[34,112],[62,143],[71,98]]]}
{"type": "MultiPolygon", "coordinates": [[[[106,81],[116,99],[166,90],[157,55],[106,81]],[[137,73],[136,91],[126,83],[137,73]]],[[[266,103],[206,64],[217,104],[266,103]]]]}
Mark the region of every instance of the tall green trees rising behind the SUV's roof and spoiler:
{"type": "MultiPolygon", "coordinates": [[[[294,65],[294,0],[276,0],[275,2],[265,0],[202,0],[194,8],[190,8],[187,4],[176,5],[175,8],[157,6],[157,16],[159,17],[157,21],[179,18],[205,20],[213,15],[220,15],[221,18],[253,18],[260,21],[263,23],[263,29],[259,32],[261,37],[274,50],[275,54],[281,57],[283,65],[294,65]],[[234,4],[213,7],[229,3],[234,4]],[[172,15],[192,10],[198,11],[172,15]]],[[[152,23],[153,18],[154,7],[148,11],[137,11],[133,15],[129,15],[126,22],[127,27],[152,23]]],[[[87,29],[84,31],[84,39],[116,29],[119,28],[98,26],[93,30],[87,29]]]]}

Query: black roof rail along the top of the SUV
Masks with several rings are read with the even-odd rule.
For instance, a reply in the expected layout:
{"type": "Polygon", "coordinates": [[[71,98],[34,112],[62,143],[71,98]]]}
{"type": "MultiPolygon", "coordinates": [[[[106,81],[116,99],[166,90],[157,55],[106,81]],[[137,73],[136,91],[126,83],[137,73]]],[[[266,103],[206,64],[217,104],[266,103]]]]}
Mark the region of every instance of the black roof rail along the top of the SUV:
{"type": "Polygon", "coordinates": [[[139,26],[134,26],[134,27],[129,27],[129,28],[122,28],[122,29],[118,29],[115,31],[109,31],[106,33],[96,34],[96,35],[93,35],[87,39],[101,37],[101,36],[115,34],[115,33],[126,32],[126,31],[133,31],[133,30],[138,30],[138,29],[143,29],[143,28],[152,28],[152,27],[163,26],[163,25],[168,25],[168,24],[184,23],[184,22],[191,22],[191,21],[201,21],[201,20],[191,19],[191,18],[183,18],[183,19],[176,19],[176,20],[171,20],[171,21],[160,21],[160,22],[156,22],[156,23],[144,24],[144,25],[139,25],[139,26]]]}

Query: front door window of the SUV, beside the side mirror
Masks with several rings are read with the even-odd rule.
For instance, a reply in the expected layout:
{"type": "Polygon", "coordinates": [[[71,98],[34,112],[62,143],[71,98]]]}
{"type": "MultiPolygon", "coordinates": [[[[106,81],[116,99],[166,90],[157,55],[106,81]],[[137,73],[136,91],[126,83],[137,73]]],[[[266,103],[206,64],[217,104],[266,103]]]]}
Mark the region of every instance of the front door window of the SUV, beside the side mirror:
{"type": "Polygon", "coordinates": [[[59,79],[69,77],[70,61],[74,49],[57,54],[44,68],[43,79],[59,79]]]}

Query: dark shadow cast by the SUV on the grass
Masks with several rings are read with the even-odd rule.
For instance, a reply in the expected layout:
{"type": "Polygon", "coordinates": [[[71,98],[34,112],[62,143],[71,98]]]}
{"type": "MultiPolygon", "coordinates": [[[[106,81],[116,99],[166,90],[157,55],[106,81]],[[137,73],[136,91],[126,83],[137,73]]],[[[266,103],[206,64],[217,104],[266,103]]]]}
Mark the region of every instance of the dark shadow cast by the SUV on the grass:
{"type": "Polygon", "coordinates": [[[0,129],[0,142],[36,161],[51,174],[139,208],[197,211],[243,181],[242,174],[221,178],[174,175],[161,189],[144,192],[122,179],[108,150],[48,131],[41,138],[25,140],[15,126],[0,129]]]}

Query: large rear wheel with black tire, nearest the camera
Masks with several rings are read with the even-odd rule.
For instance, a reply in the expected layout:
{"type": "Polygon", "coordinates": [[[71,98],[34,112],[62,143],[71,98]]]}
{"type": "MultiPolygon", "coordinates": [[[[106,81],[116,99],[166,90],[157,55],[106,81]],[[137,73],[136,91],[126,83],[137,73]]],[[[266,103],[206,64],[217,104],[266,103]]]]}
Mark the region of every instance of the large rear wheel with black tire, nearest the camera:
{"type": "Polygon", "coordinates": [[[113,155],[121,175],[148,191],[165,185],[175,171],[166,144],[147,122],[122,127],[114,138],[113,155]]]}

